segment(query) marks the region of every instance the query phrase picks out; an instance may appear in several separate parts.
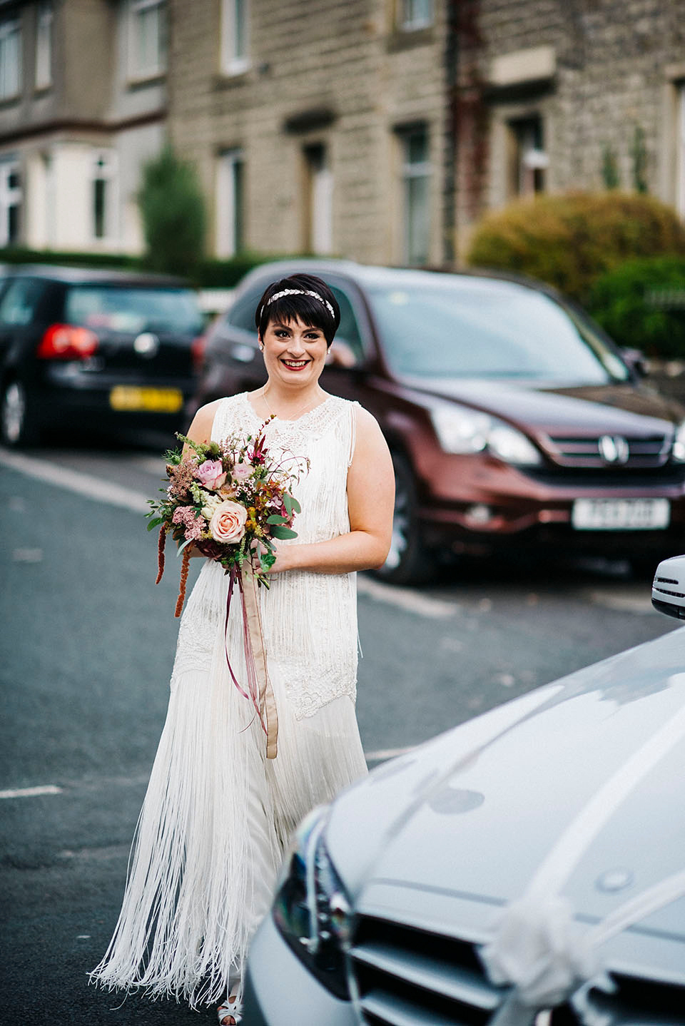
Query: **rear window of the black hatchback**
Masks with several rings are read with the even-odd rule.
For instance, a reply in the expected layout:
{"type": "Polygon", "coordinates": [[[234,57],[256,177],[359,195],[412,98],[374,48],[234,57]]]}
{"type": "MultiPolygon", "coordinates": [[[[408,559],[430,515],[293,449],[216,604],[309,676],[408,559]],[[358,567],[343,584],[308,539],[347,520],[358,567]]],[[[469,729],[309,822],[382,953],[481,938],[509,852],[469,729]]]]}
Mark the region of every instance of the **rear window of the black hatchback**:
{"type": "Polygon", "coordinates": [[[96,331],[199,334],[202,316],[190,288],[73,285],[67,291],[65,319],[96,331]]]}

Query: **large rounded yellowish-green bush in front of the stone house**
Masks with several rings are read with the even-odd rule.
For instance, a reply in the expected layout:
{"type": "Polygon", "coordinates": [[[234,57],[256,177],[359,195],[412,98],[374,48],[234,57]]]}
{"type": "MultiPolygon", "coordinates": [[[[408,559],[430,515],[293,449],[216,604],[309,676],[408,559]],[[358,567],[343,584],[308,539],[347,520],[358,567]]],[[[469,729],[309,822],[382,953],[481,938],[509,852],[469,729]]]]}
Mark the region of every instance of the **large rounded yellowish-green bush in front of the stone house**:
{"type": "Polygon", "coordinates": [[[579,303],[595,280],[635,256],[685,254],[685,228],[651,196],[611,191],[517,200],[486,214],[470,264],[539,278],[579,303]]]}

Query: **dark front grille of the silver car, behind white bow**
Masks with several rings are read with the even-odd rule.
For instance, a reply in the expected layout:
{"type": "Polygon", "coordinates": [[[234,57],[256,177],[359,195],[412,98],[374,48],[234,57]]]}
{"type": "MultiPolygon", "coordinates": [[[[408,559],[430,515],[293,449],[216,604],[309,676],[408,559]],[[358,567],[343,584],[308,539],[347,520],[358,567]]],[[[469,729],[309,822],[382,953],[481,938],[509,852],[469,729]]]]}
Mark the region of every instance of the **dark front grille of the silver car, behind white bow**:
{"type": "MultiPolygon", "coordinates": [[[[350,958],[365,1026],[486,1026],[508,992],[488,980],[476,944],[372,916],[360,918],[350,958]]],[[[591,990],[589,1001],[613,1026],[685,1024],[685,987],[611,977],[615,992],[591,990]]],[[[581,1026],[568,1004],[537,1022],[581,1026]]]]}

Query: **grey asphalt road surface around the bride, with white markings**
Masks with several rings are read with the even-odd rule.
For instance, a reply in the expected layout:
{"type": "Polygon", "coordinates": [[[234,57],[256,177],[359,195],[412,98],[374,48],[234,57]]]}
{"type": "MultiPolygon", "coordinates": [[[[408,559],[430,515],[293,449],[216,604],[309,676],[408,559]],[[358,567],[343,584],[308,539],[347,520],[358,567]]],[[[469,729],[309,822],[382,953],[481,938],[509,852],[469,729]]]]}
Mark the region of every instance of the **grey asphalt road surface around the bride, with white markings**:
{"type": "MultiPolygon", "coordinates": [[[[156,588],[140,513],[161,461],[152,449],[7,460],[0,451],[0,1022],[215,1021],[174,1002],[122,1004],[86,981],[116,920],[168,696],[176,565],[156,588]]],[[[676,626],[620,565],[359,584],[371,764],[676,626]]]]}

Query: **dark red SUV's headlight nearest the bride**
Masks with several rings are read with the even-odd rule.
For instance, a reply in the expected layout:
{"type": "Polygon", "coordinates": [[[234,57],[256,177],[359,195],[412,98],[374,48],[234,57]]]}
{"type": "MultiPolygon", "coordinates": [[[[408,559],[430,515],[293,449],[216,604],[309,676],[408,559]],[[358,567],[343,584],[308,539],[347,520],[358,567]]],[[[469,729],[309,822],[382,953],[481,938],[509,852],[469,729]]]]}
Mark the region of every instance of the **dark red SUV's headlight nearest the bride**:
{"type": "MultiPolygon", "coordinates": [[[[488,449],[505,463],[534,467],[541,456],[524,434],[488,413],[459,406],[435,406],[431,419],[445,452],[482,452],[488,449]]],[[[685,442],[685,436],[684,436],[685,442]]]]}

